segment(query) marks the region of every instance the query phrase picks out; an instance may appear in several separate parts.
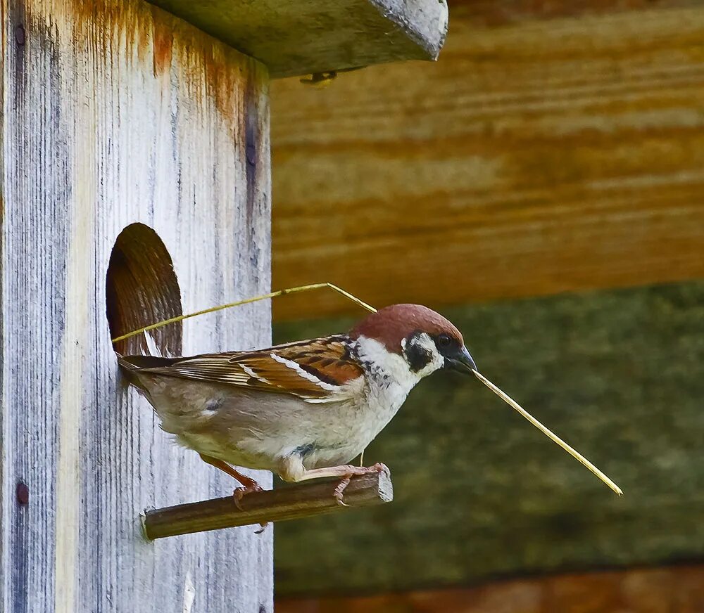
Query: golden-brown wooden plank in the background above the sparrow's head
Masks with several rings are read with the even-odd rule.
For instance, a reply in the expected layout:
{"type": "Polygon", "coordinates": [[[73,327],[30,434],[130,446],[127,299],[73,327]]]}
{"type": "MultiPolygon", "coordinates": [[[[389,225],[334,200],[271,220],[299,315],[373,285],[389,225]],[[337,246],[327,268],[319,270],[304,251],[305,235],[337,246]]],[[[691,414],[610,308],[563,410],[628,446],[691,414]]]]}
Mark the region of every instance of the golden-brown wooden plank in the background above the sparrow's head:
{"type": "Polygon", "coordinates": [[[436,65],[273,84],[275,287],[441,306],[704,277],[704,8],[508,4],[532,3],[451,6],[436,65]]]}

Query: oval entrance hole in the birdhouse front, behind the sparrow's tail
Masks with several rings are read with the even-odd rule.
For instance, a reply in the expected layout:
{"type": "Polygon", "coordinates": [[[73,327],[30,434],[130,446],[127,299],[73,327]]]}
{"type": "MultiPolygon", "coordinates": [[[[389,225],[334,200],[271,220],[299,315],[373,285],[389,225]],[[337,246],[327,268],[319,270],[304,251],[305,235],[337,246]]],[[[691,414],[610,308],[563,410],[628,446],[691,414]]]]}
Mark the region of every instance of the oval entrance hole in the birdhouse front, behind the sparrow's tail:
{"type": "MultiPolygon", "coordinates": [[[[149,226],[130,224],[115,240],[106,277],[106,310],[111,338],[182,315],[181,290],[171,256],[149,226]]],[[[148,334],[162,354],[181,354],[182,323],[148,334]]],[[[114,349],[123,355],[149,353],[144,335],[117,342],[114,349]]]]}

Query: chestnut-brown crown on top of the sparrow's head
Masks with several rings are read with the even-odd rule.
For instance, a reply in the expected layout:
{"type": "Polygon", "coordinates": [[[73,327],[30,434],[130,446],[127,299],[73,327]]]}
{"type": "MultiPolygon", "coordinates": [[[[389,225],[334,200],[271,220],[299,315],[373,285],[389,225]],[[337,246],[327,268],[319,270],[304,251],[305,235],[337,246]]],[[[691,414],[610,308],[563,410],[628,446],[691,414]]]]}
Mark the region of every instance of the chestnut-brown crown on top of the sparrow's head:
{"type": "Polygon", "coordinates": [[[385,306],[360,321],[349,335],[353,340],[360,336],[376,339],[388,351],[401,353],[401,341],[418,330],[431,336],[446,333],[464,344],[460,330],[441,314],[420,304],[385,306]]]}

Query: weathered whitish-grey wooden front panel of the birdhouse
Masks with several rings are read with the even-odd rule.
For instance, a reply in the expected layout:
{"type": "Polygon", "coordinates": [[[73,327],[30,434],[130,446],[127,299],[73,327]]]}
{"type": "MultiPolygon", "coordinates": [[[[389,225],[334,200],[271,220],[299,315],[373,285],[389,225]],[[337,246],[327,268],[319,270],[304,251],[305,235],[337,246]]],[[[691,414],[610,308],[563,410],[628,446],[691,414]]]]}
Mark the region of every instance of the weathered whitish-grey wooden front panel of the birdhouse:
{"type": "MultiPolygon", "coordinates": [[[[135,221],[168,249],[184,310],[268,290],[265,67],[141,1],[0,6],[0,609],[271,612],[271,532],[144,540],[145,508],[233,483],[127,389],[106,319],[111,250],[135,221]]],[[[269,330],[250,305],[184,324],[183,350],[269,330]]]]}

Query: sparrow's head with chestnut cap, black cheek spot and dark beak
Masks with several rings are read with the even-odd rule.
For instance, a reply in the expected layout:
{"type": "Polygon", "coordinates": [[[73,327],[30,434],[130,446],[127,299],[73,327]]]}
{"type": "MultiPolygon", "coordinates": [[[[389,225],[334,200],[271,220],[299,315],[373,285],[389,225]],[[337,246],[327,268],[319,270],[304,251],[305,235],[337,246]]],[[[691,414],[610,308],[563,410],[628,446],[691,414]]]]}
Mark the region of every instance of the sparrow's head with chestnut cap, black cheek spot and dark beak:
{"type": "Polygon", "coordinates": [[[420,304],[394,304],[360,321],[353,340],[372,340],[401,356],[420,377],[439,368],[470,374],[477,370],[460,331],[446,318],[420,304]]]}

